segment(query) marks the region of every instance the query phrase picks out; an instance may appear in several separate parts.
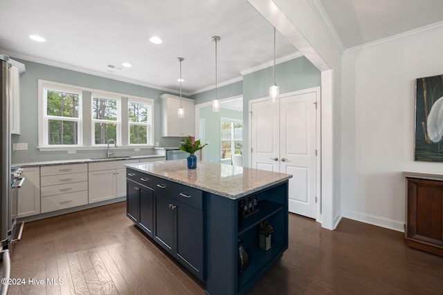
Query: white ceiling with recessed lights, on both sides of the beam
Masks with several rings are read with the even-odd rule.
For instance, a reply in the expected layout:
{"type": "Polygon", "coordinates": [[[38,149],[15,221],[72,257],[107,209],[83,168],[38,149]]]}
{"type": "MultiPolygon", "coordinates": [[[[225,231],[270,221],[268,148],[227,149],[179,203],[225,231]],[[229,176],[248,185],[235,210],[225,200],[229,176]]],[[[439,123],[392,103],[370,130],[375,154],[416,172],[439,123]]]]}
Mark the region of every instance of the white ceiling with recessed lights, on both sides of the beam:
{"type": "MultiPolygon", "coordinates": [[[[307,1],[324,8],[344,48],[443,20],[442,0],[307,1]]],[[[0,0],[0,7],[0,53],[111,79],[178,91],[184,57],[183,92],[212,88],[214,35],[219,86],[272,64],[273,28],[246,0],[0,0]],[[152,35],[163,44],[151,44],[152,35]],[[132,68],[106,67],[123,62],[132,68]]],[[[280,60],[298,55],[278,32],[276,48],[280,60]]]]}

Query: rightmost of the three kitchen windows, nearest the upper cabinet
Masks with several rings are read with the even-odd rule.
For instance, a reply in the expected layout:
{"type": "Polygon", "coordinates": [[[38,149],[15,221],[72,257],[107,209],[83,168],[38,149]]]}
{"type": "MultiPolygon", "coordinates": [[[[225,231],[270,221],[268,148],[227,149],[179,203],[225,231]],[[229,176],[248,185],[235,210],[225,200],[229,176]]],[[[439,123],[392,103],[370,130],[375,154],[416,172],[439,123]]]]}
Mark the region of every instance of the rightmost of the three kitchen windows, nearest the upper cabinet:
{"type": "Polygon", "coordinates": [[[152,144],[152,103],[128,99],[129,144],[152,144]]]}

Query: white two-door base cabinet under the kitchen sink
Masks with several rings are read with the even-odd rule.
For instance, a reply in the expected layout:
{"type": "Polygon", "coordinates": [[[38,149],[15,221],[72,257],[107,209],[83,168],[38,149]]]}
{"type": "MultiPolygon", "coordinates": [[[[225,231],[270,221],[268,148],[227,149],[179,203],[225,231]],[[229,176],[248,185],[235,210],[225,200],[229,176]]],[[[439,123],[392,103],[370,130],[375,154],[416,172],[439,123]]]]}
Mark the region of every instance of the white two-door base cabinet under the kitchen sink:
{"type": "Polygon", "coordinates": [[[89,204],[126,196],[125,164],[139,160],[89,163],[89,204]]]}

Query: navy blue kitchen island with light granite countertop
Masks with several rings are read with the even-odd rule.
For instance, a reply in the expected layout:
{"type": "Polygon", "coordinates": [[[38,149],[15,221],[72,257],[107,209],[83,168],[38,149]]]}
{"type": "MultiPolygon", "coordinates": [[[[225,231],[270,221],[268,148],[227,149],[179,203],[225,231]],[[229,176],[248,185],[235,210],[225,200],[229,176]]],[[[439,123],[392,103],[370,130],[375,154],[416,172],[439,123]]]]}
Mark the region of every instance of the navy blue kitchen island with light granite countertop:
{"type": "Polygon", "coordinates": [[[206,283],[206,294],[246,293],[287,249],[292,175],[200,161],[190,170],[186,160],[125,166],[127,216],[206,283]],[[264,220],[274,229],[267,251],[264,220]],[[248,256],[241,270],[239,241],[248,256]]]}

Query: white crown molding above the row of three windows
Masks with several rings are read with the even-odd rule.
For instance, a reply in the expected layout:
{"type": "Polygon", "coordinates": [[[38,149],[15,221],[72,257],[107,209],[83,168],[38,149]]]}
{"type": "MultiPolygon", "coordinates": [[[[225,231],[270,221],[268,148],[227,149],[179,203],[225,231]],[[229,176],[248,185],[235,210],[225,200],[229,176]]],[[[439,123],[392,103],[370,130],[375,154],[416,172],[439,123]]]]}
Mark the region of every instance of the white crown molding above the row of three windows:
{"type": "MultiPolygon", "coordinates": [[[[88,75],[94,75],[94,76],[98,76],[98,77],[103,77],[103,78],[107,78],[107,79],[112,79],[112,80],[116,80],[116,81],[120,81],[120,82],[125,82],[125,83],[129,83],[129,84],[135,84],[138,86],[144,86],[144,87],[148,87],[148,88],[153,88],[156,90],[161,90],[161,91],[168,91],[170,93],[177,93],[179,94],[180,91],[177,89],[172,89],[172,88],[166,88],[166,87],[161,87],[161,86],[157,86],[157,85],[152,85],[152,84],[148,84],[145,82],[141,82],[141,81],[137,81],[134,79],[127,79],[127,78],[123,78],[123,77],[116,77],[114,75],[109,75],[106,73],[100,73],[100,72],[96,72],[94,70],[86,70],[84,68],[80,68],[78,66],[71,66],[69,64],[62,64],[59,63],[57,61],[50,61],[48,59],[41,59],[39,57],[32,57],[30,55],[23,55],[21,53],[15,53],[12,51],[8,51],[8,50],[3,50],[0,48],[1,53],[6,54],[8,56],[12,56],[15,57],[17,59],[24,59],[26,61],[33,61],[35,63],[38,64],[45,64],[46,66],[55,66],[57,68],[64,68],[65,70],[73,70],[75,72],[79,72],[79,73],[84,73],[84,74],[88,74],[88,75]]],[[[189,96],[190,93],[186,93],[181,91],[182,95],[186,95],[189,96]]]]}

